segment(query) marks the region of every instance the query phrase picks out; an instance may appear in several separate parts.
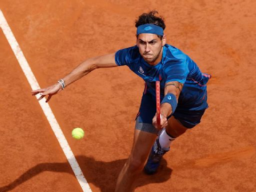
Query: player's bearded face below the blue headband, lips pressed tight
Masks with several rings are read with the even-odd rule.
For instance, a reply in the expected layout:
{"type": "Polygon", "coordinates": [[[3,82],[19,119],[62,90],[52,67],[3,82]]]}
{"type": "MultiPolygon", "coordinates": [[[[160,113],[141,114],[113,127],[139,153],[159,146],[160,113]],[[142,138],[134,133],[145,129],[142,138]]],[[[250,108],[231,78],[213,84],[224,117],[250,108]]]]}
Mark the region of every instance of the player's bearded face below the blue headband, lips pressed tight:
{"type": "Polygon", "coordinates": [[[140,33],[136,40],[139,53],[144,60],[151,65],[155,65],[161,60],[162,46],[165,44],[165,36],[162,40],[152,33],[140,33]]]}

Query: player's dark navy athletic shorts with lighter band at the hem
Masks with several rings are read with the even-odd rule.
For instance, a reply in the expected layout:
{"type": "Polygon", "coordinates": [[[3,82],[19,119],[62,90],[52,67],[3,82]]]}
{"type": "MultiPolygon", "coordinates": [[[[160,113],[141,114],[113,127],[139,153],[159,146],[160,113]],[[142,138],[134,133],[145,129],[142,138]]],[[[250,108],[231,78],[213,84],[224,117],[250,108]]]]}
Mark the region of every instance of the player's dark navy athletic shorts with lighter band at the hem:
{"type": "MultiPolygon", "coordinates": [[[[205,109],[188,110],[184,107],[178,107],[170,116],[174,116],[186,128],[192,128],[200,122],[205,109]]],[[[155,97],[150,93],[143,94],[141,104],[136,116],[135,128],[150,133],[158,133],[158,130],[152,125],[152,118],[156,113],[155,97]]],[[[167,117],[170,118],[170,116],[167,117]]]]}

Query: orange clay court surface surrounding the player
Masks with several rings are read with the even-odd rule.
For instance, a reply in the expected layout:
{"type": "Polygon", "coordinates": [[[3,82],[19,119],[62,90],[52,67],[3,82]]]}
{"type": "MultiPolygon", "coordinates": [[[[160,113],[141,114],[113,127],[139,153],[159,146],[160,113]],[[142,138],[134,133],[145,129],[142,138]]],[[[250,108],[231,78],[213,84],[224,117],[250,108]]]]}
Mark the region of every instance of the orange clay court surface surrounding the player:
{"type": "MultiPolygon", "coordinates": [[[[202,121],[171,145],[135,191],[256,191],[255,0],[0,0],[41,87],[86,58],[135,44],[142,12],[165,18],[167,42],[208,82],[202,121]]],[[[0,191],[82,191],[0,30],[0,191]]],[[[128,67],[96,69],[49,105],[92,191],[113,191],[129,155],[143,81],[128,67]],[[81,127],[81,140],[71,137],[81,127]]]]}

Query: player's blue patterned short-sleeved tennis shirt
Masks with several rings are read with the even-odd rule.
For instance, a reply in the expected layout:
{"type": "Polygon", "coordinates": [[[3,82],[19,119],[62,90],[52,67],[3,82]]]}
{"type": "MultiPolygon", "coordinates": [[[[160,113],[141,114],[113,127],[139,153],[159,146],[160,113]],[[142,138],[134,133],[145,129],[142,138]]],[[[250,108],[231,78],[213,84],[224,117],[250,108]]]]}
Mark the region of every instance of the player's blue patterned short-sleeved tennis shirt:
{"type": "Polygon", "coordinates": [[[115,53],[117,65],[127,65],[144,79],[145,92],[155,97],[155,81],[160,76],[161,100],[164,85],[169,81],[184,83],[178,98],[178,110],[202,110],[208,107],[206,83],[209,75],[202,73],[196,63],[178,48],[165,44],[162,59],[156,65],[148,64],[140,55],[138,47],[120,49],[115,53]]]}

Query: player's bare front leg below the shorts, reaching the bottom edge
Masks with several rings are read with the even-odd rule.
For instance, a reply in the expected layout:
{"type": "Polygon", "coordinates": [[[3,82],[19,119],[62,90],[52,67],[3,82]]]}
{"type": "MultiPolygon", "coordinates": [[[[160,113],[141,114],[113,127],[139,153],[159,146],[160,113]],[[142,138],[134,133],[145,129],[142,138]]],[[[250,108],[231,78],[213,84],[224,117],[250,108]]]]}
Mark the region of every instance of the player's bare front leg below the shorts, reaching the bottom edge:
{"type": "Polygon", "coordinates": [[[134,181],[148,157],[156,134],[135,129],[131,153],[117,178],[115,192],[134,191],[134,181]]]}

